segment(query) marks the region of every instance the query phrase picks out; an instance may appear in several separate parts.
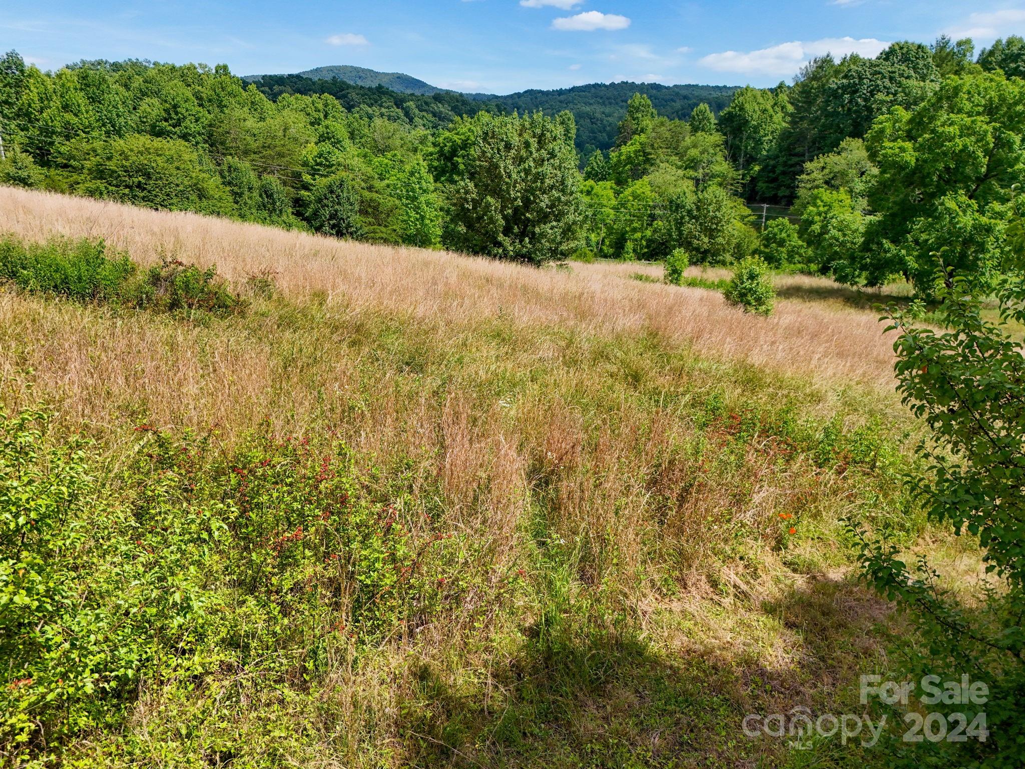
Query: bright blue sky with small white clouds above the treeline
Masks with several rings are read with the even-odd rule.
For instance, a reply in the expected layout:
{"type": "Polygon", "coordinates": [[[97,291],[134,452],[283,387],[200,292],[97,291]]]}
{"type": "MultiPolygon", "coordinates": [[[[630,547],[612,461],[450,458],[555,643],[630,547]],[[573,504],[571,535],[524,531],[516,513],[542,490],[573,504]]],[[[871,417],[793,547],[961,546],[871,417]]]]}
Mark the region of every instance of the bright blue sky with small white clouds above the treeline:
{"type": "Polygon", "coordinates": [[[1025,0],[0,0],[0,49],[228,64],[240,75],[333,64],[507,93],[617,80],[773,85],[810,56],[874,55],[941,33],[1025,33],[1025,0]]]}

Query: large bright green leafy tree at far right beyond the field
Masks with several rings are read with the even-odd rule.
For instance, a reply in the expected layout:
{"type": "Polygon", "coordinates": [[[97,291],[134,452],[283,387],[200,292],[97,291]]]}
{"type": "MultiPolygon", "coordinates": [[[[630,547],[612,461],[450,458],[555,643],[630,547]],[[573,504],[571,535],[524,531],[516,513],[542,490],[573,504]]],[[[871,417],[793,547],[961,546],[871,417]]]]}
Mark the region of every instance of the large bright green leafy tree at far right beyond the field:
{"type": "Polygon", "coordinates": [[[1025,83],[952,77],[914,113],[896,108],[866,138],[878,216],[862,250],[870,283],[902,273],[925,293],[937,268],[984,285],[1007,256],[1013,186],[1025,173],[1025,83]]]}

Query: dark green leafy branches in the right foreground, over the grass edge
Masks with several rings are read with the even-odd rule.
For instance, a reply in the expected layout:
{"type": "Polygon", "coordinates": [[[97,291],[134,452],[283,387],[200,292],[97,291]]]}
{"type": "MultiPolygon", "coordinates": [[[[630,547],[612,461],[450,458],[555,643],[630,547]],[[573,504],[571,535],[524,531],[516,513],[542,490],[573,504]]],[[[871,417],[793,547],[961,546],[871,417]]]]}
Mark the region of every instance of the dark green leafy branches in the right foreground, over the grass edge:
{"type": "MultiPolygon", "coordinates": [[[[1007,330],[1025,322],[1025,276],[1003,278],[1000,323],[982,317],[961,278],[938,281],[948,330],[915,325],[925,308],[891,310],[902,401],[932,435],[918,446],[928,466],[908,478],[930,517],[958,535],[978,537],[986,576],[966,600],[945,590],[925,558],[909,568],[898,549],[856,531],[866,578],[906,610],[922,645],[909,649],[912,678],[969,674],[984,681],[989,738],[937,743],[937,765],[1021,766],[1025,760],[1025,356],[1007,330]],[[966,763],[967,762],[967,763],[966,763]]],[[[959,704],[950,705],[960,710],[959,704]]],[[[972,717],[972,714],[969,714],[972,717]]],[[[922,745],[907,760],[921,765],[922,745]]]]}

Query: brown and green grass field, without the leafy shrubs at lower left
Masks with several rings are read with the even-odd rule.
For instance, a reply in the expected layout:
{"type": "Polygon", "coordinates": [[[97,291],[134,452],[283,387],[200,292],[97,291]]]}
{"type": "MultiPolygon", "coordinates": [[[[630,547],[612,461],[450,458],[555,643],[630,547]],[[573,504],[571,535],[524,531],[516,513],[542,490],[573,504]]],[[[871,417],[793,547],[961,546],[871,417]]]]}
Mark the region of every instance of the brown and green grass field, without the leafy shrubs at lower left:
{"type": "Polygon", "coordinates": [[[225,734],[245,766],[782,766],[745,713],[839,712],[886,664],[891,618],[842,523],[905,515],[907,420],[871,312],[784,298],[753,318],[637,266],[540,271],[6,188],[0,232],[216,265],[252,294],[198,320],[0,294],[4,397],[93,437],[97,474],[117,478],[141,423],[224,451],[261,423],[330,434],[409,500],[414,541],[430,510],[465,543],[442,566],[468,586],[417,636],[397,625],[359,664],[338,651],[297,699],[144,682],[116,740],[72,747],[81,766],[184,765],[225,734]],[[517,570],[509,597],[496,575],[517,570]]]}

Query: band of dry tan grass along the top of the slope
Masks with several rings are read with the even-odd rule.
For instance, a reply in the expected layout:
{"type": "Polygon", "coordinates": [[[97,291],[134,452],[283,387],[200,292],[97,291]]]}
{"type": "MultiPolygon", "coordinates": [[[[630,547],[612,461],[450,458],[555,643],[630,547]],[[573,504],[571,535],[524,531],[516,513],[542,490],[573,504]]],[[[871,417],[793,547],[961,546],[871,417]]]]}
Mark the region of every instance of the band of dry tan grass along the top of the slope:
{"type": "Polygon", "coordinates": [[[356,311],[409,312],[443,325],[503,316],[605,334],[654,332],[699,354],[795,374],[893,381],[891,342],[871,312],[784,299],[773,317],[754,318],[709,291],[624,280],[638,272],[631,265],[539,271],[13,188],[0,188],[0,232],[104,238],[142,264],[175,256],[216,265],[233,280],[270,272],[286,295],[321,293],[356,311]]]}

